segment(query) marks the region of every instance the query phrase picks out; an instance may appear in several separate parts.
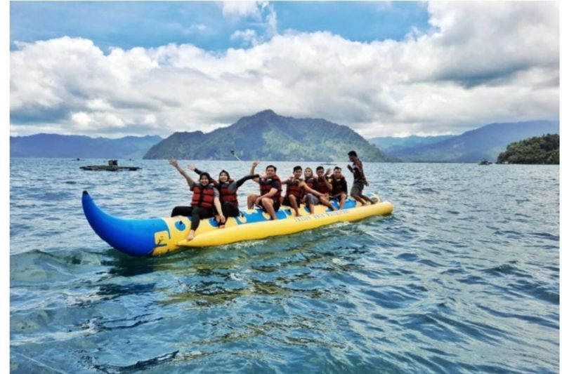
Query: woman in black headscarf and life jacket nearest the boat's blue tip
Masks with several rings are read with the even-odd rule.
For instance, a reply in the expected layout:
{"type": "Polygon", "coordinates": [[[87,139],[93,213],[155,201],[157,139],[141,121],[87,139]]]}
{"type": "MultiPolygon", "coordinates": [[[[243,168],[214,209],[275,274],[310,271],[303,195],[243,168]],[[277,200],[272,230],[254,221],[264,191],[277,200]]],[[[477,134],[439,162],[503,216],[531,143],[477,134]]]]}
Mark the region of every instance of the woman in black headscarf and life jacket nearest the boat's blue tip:
{"type": "Polygon", "coordinates": [[[221,201],[218,199],[218,189],[211,183],[209,173],[201,173],[197,183],[178,165],[178,161],[171,159],[169,163],[188,181],[189,188],[193,192],[191,206],[176,206],[171,211],[172,217],[176,215],[191,217],[191,227],[188,234],[188,241],[190,241],[195,238],[195,230],[199,227],[200,220],[213,217],[214,208],[218,212],[218,222],[223,223],[225,221],[221,201]]]}

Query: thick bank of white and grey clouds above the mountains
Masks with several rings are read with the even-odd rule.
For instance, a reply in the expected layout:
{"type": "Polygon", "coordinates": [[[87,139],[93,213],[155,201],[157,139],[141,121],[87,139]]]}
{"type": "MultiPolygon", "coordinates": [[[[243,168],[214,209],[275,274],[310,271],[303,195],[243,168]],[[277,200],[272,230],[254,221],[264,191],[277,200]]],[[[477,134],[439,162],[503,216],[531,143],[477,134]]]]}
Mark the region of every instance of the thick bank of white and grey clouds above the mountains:
{"type": "Polygon", "coordinates": [[[359,43],[327,32],[260,41],[245,30],[231,37],[252,47],[224,53],[169,44],[104,55],[69,37],[18,44],[11,134],[43,123],[58,133],[166,136],[268,108],[365,137],[558,117],[556,2],[438,2],[429,13],[431,31],[404,41],[359,43]]]}

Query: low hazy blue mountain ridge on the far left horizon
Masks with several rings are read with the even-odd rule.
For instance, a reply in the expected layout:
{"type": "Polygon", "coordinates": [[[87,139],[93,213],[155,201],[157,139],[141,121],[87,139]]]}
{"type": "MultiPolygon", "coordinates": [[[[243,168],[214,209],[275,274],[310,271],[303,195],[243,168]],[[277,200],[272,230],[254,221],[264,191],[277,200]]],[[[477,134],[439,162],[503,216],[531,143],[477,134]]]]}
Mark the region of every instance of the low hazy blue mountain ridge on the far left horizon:
{"type": "Polygon", "coordinates": [[[82,135],[36,134],[10,137],[11,157],[60,157],[84,159],[141,159],[161,141],[154,136],[126,136],[119,139],[82,135]]]}

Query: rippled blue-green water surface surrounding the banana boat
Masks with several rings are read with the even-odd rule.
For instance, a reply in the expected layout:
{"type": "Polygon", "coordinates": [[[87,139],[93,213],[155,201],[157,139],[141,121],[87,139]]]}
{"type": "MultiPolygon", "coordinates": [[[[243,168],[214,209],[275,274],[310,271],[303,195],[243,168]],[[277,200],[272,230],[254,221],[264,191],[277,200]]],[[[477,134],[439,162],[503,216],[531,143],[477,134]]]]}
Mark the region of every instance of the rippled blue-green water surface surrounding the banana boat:
{"type": "Polygon", "coordinates": [[[558,372],[558,166],[365,163],[391,216],[131,258],[89,227],[81,192],[155,218],[187,184],[166,160],[79,169],[95,164],[11,159],[12,373],[558,372]]]}

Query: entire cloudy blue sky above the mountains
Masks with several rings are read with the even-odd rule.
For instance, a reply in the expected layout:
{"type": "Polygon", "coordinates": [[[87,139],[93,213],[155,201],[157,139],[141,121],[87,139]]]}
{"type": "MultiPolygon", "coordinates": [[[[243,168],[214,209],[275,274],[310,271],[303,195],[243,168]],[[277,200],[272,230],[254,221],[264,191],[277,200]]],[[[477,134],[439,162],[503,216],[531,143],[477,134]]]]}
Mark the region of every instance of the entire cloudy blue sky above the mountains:
{"type": "Polygon", "coordinates": [[[209,132],[264,109],[365,138],[558,119],[558,1],[11,1],[10,134],[209,132]]]}

